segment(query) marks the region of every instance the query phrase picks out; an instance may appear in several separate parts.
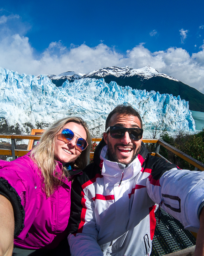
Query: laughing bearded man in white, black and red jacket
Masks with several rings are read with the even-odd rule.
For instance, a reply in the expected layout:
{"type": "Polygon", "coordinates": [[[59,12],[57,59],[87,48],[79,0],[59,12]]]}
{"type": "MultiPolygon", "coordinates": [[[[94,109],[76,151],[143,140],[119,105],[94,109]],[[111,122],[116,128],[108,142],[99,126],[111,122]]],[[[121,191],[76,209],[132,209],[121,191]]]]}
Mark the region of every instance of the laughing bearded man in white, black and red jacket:
{"type": "MultiPolygon", "coordinates": [[[[72,256],[150,255],[156,204],[186,228],[199,229],[204,173],[150,156],[142,132],[141,117],[129,105],[117,106],[107,117],[94,162],[72,184],[72,256]]],[[[204,255],[203,223],[197,256],[204,255]]]]}

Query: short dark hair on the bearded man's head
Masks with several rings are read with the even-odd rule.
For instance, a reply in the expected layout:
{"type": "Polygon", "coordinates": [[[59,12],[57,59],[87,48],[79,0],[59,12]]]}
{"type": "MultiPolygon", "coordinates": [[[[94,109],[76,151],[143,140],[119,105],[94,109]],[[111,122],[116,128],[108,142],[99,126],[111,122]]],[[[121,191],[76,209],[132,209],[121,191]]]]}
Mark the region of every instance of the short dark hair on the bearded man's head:
{"type": "Polygon", "coordinates": [[[124,116],[137,116],[140,120],[142,129],[142,118],[137,110],[135,110],[130,104],[122,104],[116,106],[106,118],[106,130],[109,127],[110,119],[114,114],[124,115],[124,116]]]}

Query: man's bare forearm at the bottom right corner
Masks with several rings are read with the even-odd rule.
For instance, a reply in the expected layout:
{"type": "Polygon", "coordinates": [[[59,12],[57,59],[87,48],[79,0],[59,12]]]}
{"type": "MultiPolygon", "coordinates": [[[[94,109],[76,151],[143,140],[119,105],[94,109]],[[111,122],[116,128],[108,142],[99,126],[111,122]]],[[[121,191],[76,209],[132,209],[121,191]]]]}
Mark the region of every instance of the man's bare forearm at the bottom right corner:
{"type": "Polygon", "coordinates": [[[200,228],[197,233],[194,256],[204,256],[204,208],[200,212],[200,228]]]}

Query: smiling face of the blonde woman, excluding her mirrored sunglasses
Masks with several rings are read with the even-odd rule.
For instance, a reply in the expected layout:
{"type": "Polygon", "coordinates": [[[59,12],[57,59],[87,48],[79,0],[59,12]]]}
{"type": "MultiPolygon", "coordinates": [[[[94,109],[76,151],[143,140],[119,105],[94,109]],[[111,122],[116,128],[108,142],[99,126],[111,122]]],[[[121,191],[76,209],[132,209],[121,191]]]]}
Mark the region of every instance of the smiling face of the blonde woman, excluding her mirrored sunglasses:
{"type": "MultiPolygon", "coordinates": [[[[72,132],[74,132],[74,135],[77,137],[80,137],[86,140],[86,131],[84,127],[81,124],[76,124],[74,122],[70,122],[68,124],[65,124],[63,126],[63,129],[70,129],[72,132]]],[[[74,137],[73,140],[69,142],[65,142],[61,138],[61,132],[55,136],[55,149],[54,149],[54,154],[55,157],[62,163],[71,163],[74,162],[78,156],[80,156],[81,151],[79,151],[76,148],[76,142],[77,138],[74,137]]]]}

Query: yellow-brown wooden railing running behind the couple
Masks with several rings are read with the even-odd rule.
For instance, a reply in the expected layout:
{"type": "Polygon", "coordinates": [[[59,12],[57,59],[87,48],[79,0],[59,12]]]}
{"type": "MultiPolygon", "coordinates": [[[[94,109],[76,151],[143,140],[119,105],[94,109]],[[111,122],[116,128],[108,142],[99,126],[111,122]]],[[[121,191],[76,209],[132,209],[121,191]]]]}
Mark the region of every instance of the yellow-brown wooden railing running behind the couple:
{"type": "MultiPolygon", "coordinates": [[[[24,156],[26,153],[29,152],[29,150],[16,149],[16,141],[15,141],[16,139],[39,140],[40,136],[39,135],[16,135],[16,134],[6,135],[6,134],[0,134],[0,139],[11,139],[11,149],[0,148],[0,155],[12,156],[12,158],[14,160],[18,156],[24,156]]],[[[100,141],[101,139],[102,138],[92,138],[92,141],[100,141]]],[[[159,154],[159,148],[160,148],[160,145],[161,145],[164,148],[173,152],[175,155],[181,157],[182,159],[186,160],[188,163],[195,166],[196,171],[197,170],[204,171],[204,164],[203,163],[199,162],[198,160],[194,159],[191,156],[186,155],[185,153],[183,153],[179,149],[172,147],[171,145],[164,142],[163,140],[143,139],[142,141],[144,143],[156,143],[155,150],[154,150],[154,152],[151,153],[151,155],[155,155],[155,156],[158,156],[158,157],[163,157],[159,154]]],[[[90,158],[93,158],[93,152],[90,152],[90,158]]]]}

